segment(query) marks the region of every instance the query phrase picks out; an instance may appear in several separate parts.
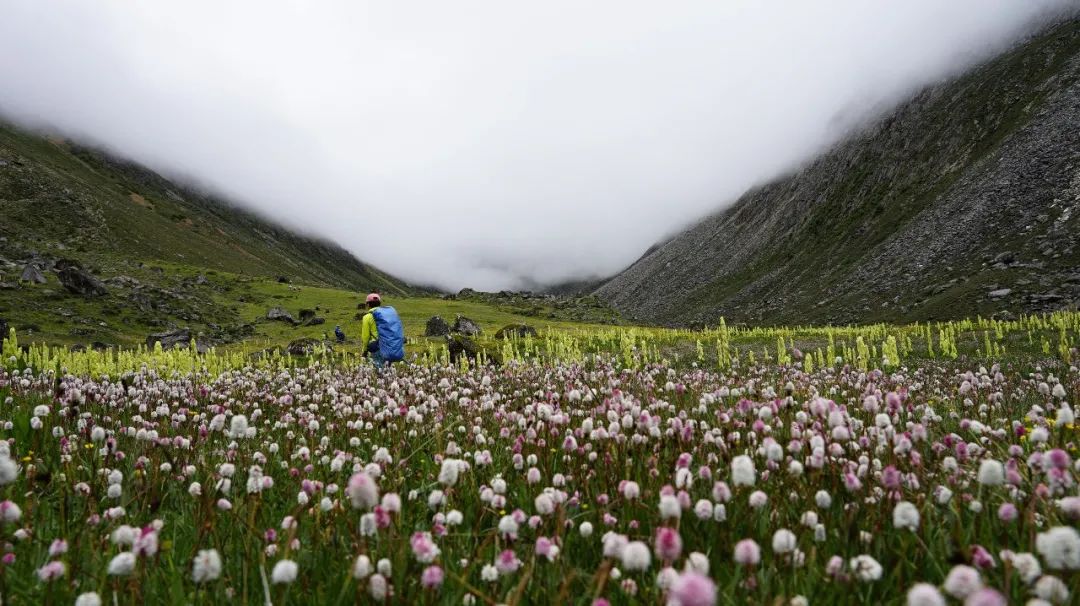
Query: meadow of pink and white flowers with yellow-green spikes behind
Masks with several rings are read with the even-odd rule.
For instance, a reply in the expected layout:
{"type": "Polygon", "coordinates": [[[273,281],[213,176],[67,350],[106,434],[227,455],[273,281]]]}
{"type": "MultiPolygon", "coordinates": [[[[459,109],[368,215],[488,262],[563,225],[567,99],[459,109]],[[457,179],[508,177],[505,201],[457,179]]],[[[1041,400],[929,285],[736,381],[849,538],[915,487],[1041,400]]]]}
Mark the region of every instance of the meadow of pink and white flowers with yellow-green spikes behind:
{"type": "Polygon", "coordinates": [[[1070,604],[1078,327],[623,329],[381,375],[10,339],[0,595],[1070,604]]]}

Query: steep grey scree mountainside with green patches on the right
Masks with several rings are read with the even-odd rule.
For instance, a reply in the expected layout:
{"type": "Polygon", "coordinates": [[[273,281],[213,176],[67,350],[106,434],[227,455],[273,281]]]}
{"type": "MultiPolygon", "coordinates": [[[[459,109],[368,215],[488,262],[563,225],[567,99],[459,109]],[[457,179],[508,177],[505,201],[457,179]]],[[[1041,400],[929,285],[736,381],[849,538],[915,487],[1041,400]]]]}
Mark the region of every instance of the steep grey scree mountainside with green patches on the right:
{"type": "Polygon", "coordinates": [[[931,86],[596,289],[664,324],[927,321],[1080,301],[1080,18],[931,86]]]}

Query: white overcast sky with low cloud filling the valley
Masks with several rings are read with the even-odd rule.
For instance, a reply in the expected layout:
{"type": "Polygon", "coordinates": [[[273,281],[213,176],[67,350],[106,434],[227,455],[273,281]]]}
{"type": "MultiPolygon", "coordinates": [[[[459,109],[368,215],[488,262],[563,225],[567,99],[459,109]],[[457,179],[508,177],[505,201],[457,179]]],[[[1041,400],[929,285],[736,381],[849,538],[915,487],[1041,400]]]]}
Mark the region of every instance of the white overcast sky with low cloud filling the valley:
{"type": "Polygon", "coordinates": [[[1070,0],[3,0],[0,112],[457,289],[607,275],[1070,0]]]}

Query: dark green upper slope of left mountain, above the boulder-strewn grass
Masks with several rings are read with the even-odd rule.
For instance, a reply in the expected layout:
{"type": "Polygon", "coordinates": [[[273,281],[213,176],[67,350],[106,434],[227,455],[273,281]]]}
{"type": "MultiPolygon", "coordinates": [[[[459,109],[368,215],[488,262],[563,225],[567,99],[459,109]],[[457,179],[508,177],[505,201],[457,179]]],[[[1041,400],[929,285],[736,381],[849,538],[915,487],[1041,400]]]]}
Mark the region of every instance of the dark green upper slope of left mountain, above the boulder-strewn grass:
{"type": "Polygon", "coordinates": [[[298,234],[136,164],[0,123],[0,254],[98,266],[165,261],[352,289],[408,286],[340,246],[298,234]]]}

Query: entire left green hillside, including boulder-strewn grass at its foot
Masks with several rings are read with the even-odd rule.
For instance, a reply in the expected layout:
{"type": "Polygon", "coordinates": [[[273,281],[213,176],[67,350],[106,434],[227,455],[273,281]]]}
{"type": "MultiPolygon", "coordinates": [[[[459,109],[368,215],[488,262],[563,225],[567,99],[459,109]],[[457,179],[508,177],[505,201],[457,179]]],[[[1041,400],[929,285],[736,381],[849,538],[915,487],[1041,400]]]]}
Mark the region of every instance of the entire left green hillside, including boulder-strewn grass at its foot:
{"type": "Polygon", "coordinates": [[[303,301],[292,332],[318,335],[372,289],[427,292],[145,167],[0,123],[0,329],[72,347],[170,331],[227,344],[273,337],[270,310],[303,301]]]}

